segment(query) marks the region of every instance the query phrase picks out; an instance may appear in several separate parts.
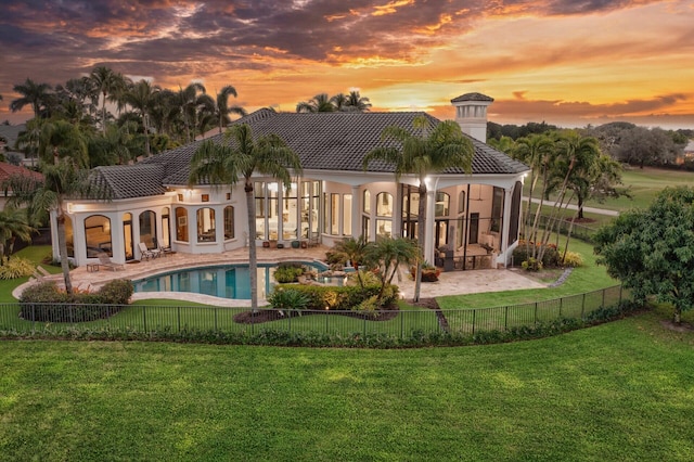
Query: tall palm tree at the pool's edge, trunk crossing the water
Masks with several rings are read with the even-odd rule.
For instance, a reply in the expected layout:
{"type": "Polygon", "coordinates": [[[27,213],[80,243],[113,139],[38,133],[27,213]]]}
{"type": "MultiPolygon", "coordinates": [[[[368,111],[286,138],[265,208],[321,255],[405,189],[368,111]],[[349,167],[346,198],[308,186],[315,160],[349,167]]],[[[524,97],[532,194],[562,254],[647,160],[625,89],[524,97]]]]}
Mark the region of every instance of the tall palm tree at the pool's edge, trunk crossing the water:
{"type": "Polygon", "coordinates": [[[301,174],[301,162],[298,155],[288,147],[277,134],[270,133],[254,138],[247,124],[233,125],[227,129],[224,144],[213,140],[204,141],[195,151],[191,159],[189,182],[195,184],[202,181],[215,185],[233,187],[241,179],[244,181],[246,193],[246,209],[248,211],[248,264],[250,271],[250,306],[254,312],[258,309],[258,281],[256,255],[256,206],[254,197],[255,174],[275,178],[290,188],[291,171],[301,174]]]}

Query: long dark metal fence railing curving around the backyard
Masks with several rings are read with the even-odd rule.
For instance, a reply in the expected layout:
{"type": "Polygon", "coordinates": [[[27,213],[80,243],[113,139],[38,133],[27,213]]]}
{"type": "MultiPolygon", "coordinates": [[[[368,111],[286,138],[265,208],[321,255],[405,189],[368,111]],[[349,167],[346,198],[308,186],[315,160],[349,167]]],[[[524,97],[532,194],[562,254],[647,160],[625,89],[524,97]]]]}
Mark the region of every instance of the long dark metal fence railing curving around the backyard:
{"type": "Polygon", "coordinates": [[[254,335],[273,330],[329,335],[385,334],[399,338],[450,332],[480,332],[532,326],[562,318],[586,319],[600,308],[617,306],[624,297],[620,285],[552,300],[476,309],[402,309],[384,311],[377,318],[360,313],[248,308],[138,306],[138,305],[0,305],[0,333],[49,334],[72,331],[167,334],[209,331],[254,335]]]}

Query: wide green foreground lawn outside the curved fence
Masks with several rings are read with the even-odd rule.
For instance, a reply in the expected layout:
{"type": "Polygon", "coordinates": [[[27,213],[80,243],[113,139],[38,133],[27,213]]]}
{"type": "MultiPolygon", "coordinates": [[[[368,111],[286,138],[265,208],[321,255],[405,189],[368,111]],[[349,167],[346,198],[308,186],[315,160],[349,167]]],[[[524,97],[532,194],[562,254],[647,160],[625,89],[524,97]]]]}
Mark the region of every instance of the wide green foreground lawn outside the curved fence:
{"type": "Polygon", "coordinates": [[[0,343],[5,461],[690,461],[694,333],[350,350],[0,343]]]}

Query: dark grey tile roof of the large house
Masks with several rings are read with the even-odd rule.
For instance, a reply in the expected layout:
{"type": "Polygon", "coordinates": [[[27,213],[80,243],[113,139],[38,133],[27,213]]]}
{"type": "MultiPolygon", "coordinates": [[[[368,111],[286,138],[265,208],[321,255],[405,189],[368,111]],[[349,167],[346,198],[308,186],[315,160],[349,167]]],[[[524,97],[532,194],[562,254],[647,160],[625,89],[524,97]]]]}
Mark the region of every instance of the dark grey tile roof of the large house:
{"type": "MultiPolygon", "coordinates": [[[[369,151],[381,143],[381,132],[385,127],[397,125],[412,129],[416,116],[425,115],[434,124],[439,120],[421,112],[401,113],[275,113],[260,110],[235,121],[248,124],[254,136],[275,133],[281,137],[300,157],[305,170],[354,171],[361,172],[362,159],[369,151]]],[[[221,142],[222,134],[208,140],[221,142]]],[[[473,175],[484,174],[519,174],[528,170],[524,164],[512,159],[506,154],[472,139],[475,147],[473,157],[473,175]]],[[[171,151],[157,154],[140,162],[136,166],[119,167],[121,189],[114,190],[114,197],[133,197],[146,191],[160,194],[166,185],[185,185],[190,174],[190,159],[203,141],[196,141],[171,151]],[[133,167],[158,166],[162,181],[156,187],[145,188],[145,182],[155,180],[155,176],[143,178],[151,170],[138,170],[133,167]]],[[[100,167],[103,175],[118,167],[100,167]]],[[[372,163],[369,171],[393,172],[393,166],[386,163],[372,163]]],[[[452,168],[447,174],[462,174],[461,168],[452,168]]]]}

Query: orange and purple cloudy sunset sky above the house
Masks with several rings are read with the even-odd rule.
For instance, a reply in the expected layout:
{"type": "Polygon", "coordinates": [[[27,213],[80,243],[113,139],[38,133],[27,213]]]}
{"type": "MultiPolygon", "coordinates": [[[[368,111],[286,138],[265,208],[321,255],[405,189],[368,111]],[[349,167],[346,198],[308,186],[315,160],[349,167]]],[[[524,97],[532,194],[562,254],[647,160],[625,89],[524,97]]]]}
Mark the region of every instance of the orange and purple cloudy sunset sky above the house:
{"type": "Polygon", "coordinates": [[[358,89],[372,111],[694,128],[694,0],[0,0],[0,121],[12,87],[105,65],[162,87],[233,85],[248,111],[358,89]]]}

